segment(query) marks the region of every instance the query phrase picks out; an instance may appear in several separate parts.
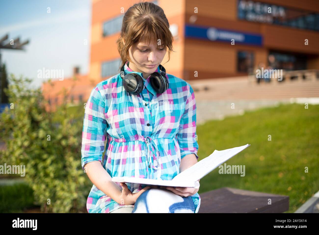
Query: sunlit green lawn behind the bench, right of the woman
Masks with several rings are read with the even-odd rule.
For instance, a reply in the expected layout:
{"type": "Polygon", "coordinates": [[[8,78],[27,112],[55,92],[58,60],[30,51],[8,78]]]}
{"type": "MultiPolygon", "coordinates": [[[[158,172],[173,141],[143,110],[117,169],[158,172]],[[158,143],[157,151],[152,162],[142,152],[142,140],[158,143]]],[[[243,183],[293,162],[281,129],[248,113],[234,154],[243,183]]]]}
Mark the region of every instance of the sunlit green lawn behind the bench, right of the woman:
{"type": "Polygon", "coordinates": [[[288,195],[287,212],[296,211],[319,190],[318,117],[319,105],[305,109],[302,104],[288,104],[197,125],[198,160],[215,149],[250,144],[226,161],[227,165],[245,165],[244,177],[219,174],[216,168],[200,180],[198,193],[234,187],[288,195]]]}

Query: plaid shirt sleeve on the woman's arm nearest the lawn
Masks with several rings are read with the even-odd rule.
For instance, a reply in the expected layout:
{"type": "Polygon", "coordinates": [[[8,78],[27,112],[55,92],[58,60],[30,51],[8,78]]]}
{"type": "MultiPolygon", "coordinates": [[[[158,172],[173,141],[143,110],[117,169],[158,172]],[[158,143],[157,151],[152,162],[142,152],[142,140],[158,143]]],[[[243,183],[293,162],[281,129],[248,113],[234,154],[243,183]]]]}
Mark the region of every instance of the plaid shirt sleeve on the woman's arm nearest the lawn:
{"type": "Polygon", "coordinates": [[[189,94],[185,104],[185,110],[182,115],[177,140],[181,150],[181,159],[189,154],[195,154],[198,159],[198,143],[196,135],[196,101],[192,87],[189,87],[189,94]]]}

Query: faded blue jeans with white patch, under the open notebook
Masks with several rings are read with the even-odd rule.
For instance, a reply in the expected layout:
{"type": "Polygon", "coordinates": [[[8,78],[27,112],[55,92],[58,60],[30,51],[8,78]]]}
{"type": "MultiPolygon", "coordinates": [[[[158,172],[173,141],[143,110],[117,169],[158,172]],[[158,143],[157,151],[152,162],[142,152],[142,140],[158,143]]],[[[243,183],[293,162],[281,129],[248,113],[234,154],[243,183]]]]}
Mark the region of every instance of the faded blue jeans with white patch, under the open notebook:
{"type": "Polygon", "coordinates": [[[182,197],[167,189],[150,188],[137,198],[131,213],[195,213],[195,205],[191,196],[182,197]]]}

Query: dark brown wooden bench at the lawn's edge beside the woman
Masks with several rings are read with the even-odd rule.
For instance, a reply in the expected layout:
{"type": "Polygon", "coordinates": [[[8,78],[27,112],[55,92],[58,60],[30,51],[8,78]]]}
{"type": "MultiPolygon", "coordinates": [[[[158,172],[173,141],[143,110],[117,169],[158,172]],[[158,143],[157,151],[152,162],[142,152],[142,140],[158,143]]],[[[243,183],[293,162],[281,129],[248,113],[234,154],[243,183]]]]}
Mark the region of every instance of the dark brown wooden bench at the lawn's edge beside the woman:
{"type": "Polygon", "coordinates": [[[224,187],[199,196],[198,213],[282,213],[289,209],[289,196],[271,193],[224,187]]]}

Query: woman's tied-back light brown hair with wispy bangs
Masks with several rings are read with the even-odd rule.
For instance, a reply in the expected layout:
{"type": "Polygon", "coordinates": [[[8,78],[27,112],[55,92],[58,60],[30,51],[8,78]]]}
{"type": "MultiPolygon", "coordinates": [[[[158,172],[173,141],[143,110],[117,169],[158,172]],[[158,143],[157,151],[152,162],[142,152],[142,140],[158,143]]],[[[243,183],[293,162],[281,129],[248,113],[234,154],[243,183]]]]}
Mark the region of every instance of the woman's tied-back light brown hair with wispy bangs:
{"type": "Polygon", "coordinates": [[[170,52],[173,51],[173,35],[163,9],[150,2],[136,3],[124,14],[121,34],[116,41],[122,60],[120,68],[130,61],[129,48],[143,37],[145,42],[155,45],[158,44],[156,39],[160,39],[160,46],[168,47],[169,61],[170,52]]]}

